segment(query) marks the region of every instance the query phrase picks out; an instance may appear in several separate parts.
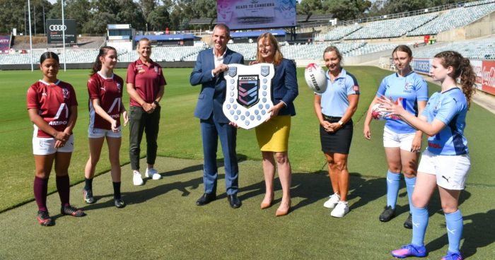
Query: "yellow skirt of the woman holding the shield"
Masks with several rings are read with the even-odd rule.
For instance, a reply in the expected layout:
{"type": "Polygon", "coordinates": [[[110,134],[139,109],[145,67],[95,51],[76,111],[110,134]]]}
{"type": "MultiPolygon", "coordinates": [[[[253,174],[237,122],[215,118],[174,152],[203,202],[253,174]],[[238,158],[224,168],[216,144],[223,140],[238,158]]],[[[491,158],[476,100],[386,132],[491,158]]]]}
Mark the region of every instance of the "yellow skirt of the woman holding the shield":
{"type": "Polygon", "coordinates": [[[291,116],[277,116],[256,127],[256,138],[264,152],[286,152],[289,148],[291,116]]]}

